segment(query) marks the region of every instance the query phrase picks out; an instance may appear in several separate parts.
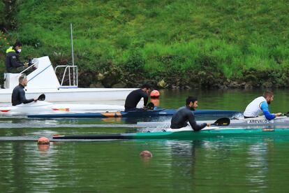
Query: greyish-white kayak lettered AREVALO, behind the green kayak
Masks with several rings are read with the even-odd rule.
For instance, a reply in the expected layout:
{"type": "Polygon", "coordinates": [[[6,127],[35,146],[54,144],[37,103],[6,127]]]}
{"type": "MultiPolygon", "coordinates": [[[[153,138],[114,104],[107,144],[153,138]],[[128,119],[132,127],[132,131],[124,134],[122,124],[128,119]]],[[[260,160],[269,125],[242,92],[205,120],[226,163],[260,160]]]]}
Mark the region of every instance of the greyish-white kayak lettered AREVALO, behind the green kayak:
{"type": "MultiPolygon", "coordinates": [[[[198,124],[204,122],[213,123],[214,120],[202,120],[197,121],[198,124]]],[[[138,127],[158,127],[158,128],[169,128],[170,121],[166,122],[138,122],[138,127]]],[[[253,118],[244,119],[244,117],[239,117],[230,120],[230,127],[254,127],[254,126],[289,126],[289,117],[281,116],[276,117],[274,120],[267,120],[266,117],[259,116],[253,118]]]]}

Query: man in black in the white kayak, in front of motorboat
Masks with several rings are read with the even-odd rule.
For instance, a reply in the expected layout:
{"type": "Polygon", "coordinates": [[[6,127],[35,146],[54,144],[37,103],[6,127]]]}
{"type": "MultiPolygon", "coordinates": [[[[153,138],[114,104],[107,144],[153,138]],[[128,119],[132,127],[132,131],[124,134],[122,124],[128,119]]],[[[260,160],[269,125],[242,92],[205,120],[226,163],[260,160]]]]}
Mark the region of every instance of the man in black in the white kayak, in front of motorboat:
{"type": "Polygon", "coordinates": [[[38,99],[26,99],[24,87],[27,86],[27,76],[25,74],[22,74],[19,77],[19,85],[17,85],[13,92],[12,92],[12,105],[17,106],[21,103],[31,103],[33,101],[37,101],[38,99]]]}

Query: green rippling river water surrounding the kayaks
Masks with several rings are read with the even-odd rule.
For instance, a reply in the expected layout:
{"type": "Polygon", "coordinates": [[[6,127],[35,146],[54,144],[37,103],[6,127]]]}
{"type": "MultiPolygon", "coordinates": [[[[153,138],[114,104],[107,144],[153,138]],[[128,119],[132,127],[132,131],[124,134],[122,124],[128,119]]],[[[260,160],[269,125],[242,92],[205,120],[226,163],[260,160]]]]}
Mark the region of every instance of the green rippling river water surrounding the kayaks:
{"type": "MultiPolygon", "coordinates": [[[[272,112],[288,112],[289,90],[274,90],[272,112]]],[[[161,91],[160,106],[198,96],[200,109],[242,111],[262,90],[161,91]]],[[[166,117],[168,120],[169,118],[166,117]]],[[[53,134],[135,132],[122,119],[0,119],[0,192],[287,192],[289,138],[71,141],[53,134]],[[123,127],[121,127],[123,124],[123,127]],[[149,150],[153,157],[140,157],[149,150]]],[[[130,127],[131,126],[131,127],[130,127]]]]}

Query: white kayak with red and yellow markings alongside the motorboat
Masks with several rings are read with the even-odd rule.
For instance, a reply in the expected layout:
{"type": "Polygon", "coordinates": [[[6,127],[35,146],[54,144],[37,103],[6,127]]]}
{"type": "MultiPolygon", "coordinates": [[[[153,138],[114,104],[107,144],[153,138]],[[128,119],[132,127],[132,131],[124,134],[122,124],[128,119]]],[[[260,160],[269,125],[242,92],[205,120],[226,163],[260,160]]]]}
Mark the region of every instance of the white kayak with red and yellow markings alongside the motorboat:
{"type": "Polygon", "coordinates": [[[103,104],[74,104],[74,103],[50,103],[46,101],[36,101],[17,106],[1,106],[0,116],[15,115],[35,115],[47,113],[100,113],[117,112],[124,110],[124,106],[103,105],[103,104]]]}

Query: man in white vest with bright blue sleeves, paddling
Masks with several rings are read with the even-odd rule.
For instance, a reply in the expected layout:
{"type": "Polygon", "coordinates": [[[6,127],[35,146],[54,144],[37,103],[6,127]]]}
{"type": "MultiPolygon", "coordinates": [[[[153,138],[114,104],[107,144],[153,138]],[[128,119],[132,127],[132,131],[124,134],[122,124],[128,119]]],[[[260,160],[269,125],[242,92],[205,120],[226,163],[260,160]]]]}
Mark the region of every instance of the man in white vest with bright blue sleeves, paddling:
{"type": "Polygon", "coordinates": [[[260,113],[263,113],[267,120],[273,120],[275,117],[282,115],[282,113],[270,113],[268,104],[270,104],[274,99],[273,92],[265,91],[263,96],[259,96],[249,103],[244,111],[244,117],[258,117],[260,113]]]}

